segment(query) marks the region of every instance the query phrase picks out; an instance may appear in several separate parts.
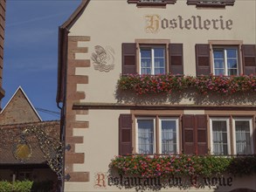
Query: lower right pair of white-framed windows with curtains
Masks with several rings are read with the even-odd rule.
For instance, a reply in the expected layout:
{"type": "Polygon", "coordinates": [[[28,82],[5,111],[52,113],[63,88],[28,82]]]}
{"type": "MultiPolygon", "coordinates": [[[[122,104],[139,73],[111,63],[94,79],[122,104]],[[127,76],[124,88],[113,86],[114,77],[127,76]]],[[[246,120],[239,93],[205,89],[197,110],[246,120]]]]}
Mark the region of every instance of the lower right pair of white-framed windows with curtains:
{"type": "Polygon", "coordinates": [[[233,118],[232,134],[229,118],[211,118],[210,122],[211,154],[253,154],[252,119],[233,118]]]}

